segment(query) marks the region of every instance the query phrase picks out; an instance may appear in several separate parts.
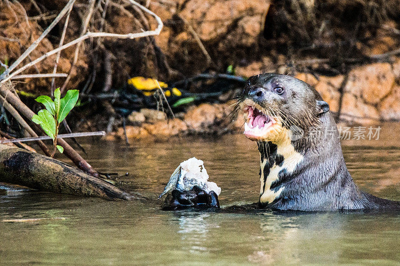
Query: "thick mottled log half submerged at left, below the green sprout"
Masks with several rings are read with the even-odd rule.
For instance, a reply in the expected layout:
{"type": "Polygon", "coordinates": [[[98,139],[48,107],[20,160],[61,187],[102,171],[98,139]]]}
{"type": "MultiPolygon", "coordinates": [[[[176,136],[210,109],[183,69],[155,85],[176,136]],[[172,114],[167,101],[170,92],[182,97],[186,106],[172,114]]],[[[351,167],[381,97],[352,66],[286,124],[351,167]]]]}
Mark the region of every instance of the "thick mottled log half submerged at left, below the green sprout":
{"type": "Polygon", "coordinates": [[[0,144],[0,182],[53,193],[133,199],[114,185],[63,162],[3,144],[0,144]]]}

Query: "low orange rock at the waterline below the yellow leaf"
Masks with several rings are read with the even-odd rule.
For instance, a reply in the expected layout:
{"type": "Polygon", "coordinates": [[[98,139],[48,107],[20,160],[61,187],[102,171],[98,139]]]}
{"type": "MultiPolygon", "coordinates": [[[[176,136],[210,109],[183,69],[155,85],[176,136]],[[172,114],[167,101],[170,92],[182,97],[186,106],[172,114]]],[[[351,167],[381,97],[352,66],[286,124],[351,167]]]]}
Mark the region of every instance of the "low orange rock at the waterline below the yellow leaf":
{"type": "Polygon", "coordinates": [[[155,136],[175,136],[186,131],[186,124],[178,119],[159,121],[155,124],[143,124],[143,128],[151,135],[155,136]]]}

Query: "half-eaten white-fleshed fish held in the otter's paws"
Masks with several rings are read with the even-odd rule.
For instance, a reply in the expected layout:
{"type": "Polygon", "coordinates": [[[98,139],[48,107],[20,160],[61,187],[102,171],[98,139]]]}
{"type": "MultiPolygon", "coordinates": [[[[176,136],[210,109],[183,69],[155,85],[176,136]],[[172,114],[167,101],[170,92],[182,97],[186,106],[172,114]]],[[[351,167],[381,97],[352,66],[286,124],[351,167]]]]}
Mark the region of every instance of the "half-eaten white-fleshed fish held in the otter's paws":
{"type": "Polygon", "coordinates": [[[200,187],[207,193],[214,191],[216,195],[219,195],[221,188],[216,183],[209,182],[208,178],[203,161],[197,160],[195,157],[187,159],[173,171],[158,199],[174,189],[184,192],[191,190],[194,186],[200,187]]]}

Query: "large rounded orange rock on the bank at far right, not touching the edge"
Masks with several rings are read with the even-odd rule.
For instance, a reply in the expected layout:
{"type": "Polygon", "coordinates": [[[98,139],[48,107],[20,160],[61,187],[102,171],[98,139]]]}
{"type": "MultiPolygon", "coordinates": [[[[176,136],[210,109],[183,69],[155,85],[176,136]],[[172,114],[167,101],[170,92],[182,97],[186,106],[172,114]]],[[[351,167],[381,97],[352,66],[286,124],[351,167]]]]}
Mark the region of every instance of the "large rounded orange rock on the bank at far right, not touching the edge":
{"type": "Polygon", "coordinates": [[[394,85],[394,75],[388,63],[373,63],[352,69],[344,92],[362,98],[366,103],[377,104],[394,85]]]}

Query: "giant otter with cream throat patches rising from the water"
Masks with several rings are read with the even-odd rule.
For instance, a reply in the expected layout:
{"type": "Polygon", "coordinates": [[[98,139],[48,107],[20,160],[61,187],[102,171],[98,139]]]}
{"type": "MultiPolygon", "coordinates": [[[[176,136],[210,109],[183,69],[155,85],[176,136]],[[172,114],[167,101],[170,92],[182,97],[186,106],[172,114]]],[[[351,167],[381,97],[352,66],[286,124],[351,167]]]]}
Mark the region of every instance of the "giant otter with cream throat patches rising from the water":
{"type": "MultiPolygon", "coordinates": [[[[238,104],[246,115],[244,135],[257,142],[260,153],[259,208],[400,210],[400,202],[377,198],[354,184],[329,105],[307,83],[274,73],[252,76],[238,104]]],[[[215,197],[203,195],[198,188],[175,191],[169,207],[187,199],[215,206],[215,197]]]]}

